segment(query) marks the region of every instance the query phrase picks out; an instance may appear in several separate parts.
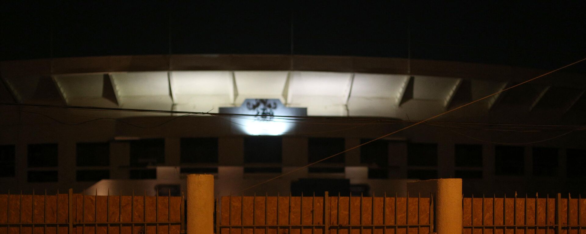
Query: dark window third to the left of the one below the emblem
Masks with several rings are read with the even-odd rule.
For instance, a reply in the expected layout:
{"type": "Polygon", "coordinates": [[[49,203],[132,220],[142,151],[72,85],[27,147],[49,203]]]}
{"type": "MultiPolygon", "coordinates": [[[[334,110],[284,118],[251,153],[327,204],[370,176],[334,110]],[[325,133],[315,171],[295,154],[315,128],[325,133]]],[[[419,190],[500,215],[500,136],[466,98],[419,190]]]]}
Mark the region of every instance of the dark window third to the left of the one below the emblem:
{"type": "Polygon", "coordinates": [[[103,143],[77,143],[77,166],[109,166],[110,144],[103,143]]]}

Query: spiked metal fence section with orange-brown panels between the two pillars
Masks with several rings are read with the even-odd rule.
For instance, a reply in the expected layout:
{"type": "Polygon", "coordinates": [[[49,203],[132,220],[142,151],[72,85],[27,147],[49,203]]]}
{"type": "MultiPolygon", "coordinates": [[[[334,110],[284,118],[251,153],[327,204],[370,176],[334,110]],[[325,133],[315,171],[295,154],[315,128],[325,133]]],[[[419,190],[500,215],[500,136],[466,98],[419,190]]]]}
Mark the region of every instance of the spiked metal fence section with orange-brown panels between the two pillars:
{"type": "Polygon", "coordinates": [[[433,199],[421,196],[222,197],[216,201],[216,233],[427,234],[433,211],[433,199]]]}

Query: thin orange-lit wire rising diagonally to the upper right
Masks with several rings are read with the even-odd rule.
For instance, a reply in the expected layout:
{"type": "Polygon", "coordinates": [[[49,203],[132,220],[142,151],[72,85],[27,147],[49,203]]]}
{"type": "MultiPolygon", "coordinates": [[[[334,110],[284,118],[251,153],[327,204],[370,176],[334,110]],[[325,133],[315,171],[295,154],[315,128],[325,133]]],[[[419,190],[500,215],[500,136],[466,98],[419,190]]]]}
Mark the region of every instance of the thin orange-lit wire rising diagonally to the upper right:
{"type": "Polygon", "coordinates": [[[343,150],[343,151],[342,151],[342,152],[340,152],[340,153],[336,153],[336,154],[333,154],[332,156],[325,157],[325,158],[323,158],[323,159],[321,159],[321,160],[318,160],[318,161],[314,161],[313,163],[309,163],[309,164],[307,164],[307,165],[305,165],[305,166],[303,166],[303,167],[298,167],[298,168],[295,168],[294,170],[288,171],[287,173],[283,173],[283,174],[281,174],[281,175],[279,175],[279,176],[272,177],[272,178],[270,178],[270,179],[268,179],[268,180],[265,180],[265,181],[263,181],[263,182],[261,182],[261,183],[258,183],[258,184],[252,185],[252,186],[250,186],[250,187],[244,188],[244,190],[240,190],[240,191],[238,191],[237,193],[244,192],[244,191],[246,191],[246,190],[250,190],[251,188],[257,187],[258,185],[261,185],[261,184],[264,184],[264,183],[270,182],[270,181],[272,181],[272,180],[276,180],[277,178],[281,178],[281,177],[287,176],[288,174],[294,173],[295,171],[299,171],[299,170],[301,170],[301,169],[303,169],[303,168],[310,167],[310,166],[312,166],[312,165],[315,165],[315,164],[317,164],[317,163],[320,163],[320,162],[322,162],[322,161],[325,161],[325,160],[331,159],[332,157],[336,157],[336,156],[338,156],[338,155],[340,155],[340,154],[343,154],[343,153],[349,152],[350,150],[357,149],[357,148],[359,148],[360,146],[363,146],[363,145],[365,145],[365,144],[372,143],[372,142],[374,142],[374,141],[376,141],[376,140],[383,139],[384,137],[387,137],[387,136],[393,135],[393,134],[395,134],[395,133],[397,133],[397,132],[401,132],[401,131],[403,131],[403,130],[405,130],[405,129],[408,129],[408,128],[411,128],[411,127],[414,127],[414,126],[420,125],[421,123],[425,123],[425,122],[427,122],[427,121],[430,121],[431,119],[438,118],[439,116],[445,115],[445,114],[447,114],[447,113],[449,113],[449,112],[453,112],[453,111],[456,111],[456,110],[458,110],[458,109],[464,108],[465,106],[469,106],[469,105],[475,104],[476,102],[482,101],[482,100],[484,100],[484,99],[486,99],[486,98],[490,98],[490,97],[492,97],[492,96],[494,96],[494,95],[500,94],[501,92],[505,92],[505,91],[507,91],[507,90],[510,90],[510,89],[512,89],[512,88],[518,87],[519,85],[526,84],[527,82],[531,82],[531,81],[533,81],[533,80],[537,80],[538,78],[541,78],[541,77],[544,77],[544,76],[546,76],[546,75],[548,75],[548,74],[551,74],[551,73],[554,73],[554,72],[556,72],[556,71],[562,70],[562,69],[564,69],[564,68],[566,68],[566,67],[570,67],[570,66],[572,66],[572,65],[574,65],[574,64],[577,64],[577,63],[580,63],[581,61],[584,61],[584,60],[586,60],[586,58],[584,58],[584,59],[581,59],[581,60],[578,60],[578,61],[575,61],[574,63],[568,64],[568,65],[566,65],[566,66],[563,66],[563,67],[557,68],[556,70],[549,71],[549,72],[547,72],[547,73],[544,73],[544,74],[538,75],[537,77],[531,78],[531,79],[529,79],[529,80],[526,80],[526,81],[520,82],[519,84],[513,85],[513,86],[511,86],[511,87],[509,87],[509,88],[505,88],[505,89],[503,89],[503,90],[500,90],[500,91],[498,91],[498,92],[495,92],[495,93],[493,93],[493,94],[490,94],[490,95],[488,95],[488,96],[486,96],[486,97],[483,97],[483,98],[476,99],[476,100],[474,100],[474,101],[472,101],[472,102],[468,102],[467,104],[464,104],[464,105],[458,106],[458,107],[456,107],[456,108],[454,108],[454,109],[451,109],[451,110],[449,110],[449,111],[445,111],[445,112],[443,112],[443,113],[440,113],[440,114],[438,114],[438,115],[431,116],[430,118],[424,119],[423,121],[420,121],[420,122],[417,122],[417,123],[413,123],[412,125],[408,125],[408,126],[406,126],[405,128],[401,128],[401,129],[395,130],[394,132],[387,133],[387,134],[385,134],[385,135],[383,135],[383,136],[379,136],[379,137],[377,137],[377,138],[375,138],[375,139],[373,139],[373,140],[369,140],[368,142],[364,142],[364,143],[362,143],[362,144],[359,144],[359,145],[357,145],[357,146],[351,147],[350,149],[343,150]]]}

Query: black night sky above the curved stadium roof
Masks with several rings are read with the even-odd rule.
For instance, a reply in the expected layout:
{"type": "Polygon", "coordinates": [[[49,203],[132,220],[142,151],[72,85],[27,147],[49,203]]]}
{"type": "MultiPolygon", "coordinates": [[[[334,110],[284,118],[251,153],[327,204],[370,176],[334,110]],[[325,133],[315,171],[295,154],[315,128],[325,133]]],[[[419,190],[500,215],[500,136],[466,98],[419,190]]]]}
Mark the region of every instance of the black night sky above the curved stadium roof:
{"type": "Polygon", "coordinates": [[[1,59],[290,54],[291,26],[294,54],[539,68],[586,56],[586,1],[479,2],[2,1],[1,59]]]}

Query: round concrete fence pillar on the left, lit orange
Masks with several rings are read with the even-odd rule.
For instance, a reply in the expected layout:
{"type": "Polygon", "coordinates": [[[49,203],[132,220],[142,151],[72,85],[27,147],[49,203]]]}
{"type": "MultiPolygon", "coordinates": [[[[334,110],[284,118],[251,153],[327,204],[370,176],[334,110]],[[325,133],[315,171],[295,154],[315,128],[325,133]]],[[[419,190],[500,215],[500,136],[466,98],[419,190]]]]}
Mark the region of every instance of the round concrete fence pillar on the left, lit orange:
{"type": "Polygon", "coordinates": [[[187,233],[214,233],[213,175],[187,176],[187,233]]]}

